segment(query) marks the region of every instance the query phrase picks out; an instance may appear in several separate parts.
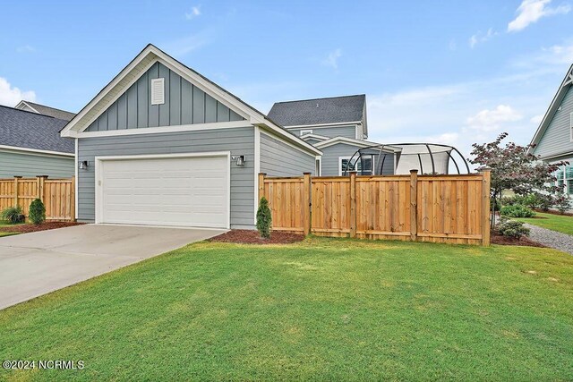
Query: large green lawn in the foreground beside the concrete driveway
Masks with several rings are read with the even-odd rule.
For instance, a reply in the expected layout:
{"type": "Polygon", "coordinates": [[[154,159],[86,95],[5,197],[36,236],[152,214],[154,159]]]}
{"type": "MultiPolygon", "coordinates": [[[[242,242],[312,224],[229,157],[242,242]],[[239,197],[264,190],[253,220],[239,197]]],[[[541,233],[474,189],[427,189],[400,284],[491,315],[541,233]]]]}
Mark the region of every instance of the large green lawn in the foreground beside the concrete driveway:
{"type": "Polygon", "coordinates": [[[200,242],[0,311],[0,359],[85,362],[0,379],[571,380],[572,344],[557,250],[200,242]]]}

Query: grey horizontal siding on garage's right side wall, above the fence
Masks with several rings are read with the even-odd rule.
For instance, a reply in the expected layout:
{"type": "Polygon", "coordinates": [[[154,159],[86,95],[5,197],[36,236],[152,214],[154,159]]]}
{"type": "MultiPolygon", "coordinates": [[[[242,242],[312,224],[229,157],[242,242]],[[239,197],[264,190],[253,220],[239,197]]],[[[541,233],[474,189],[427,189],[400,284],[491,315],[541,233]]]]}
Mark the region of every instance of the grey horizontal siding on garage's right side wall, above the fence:
{"type": "Polygon", "coordinates": [[[268,176],[302,176],[315,173],[316,157],[293,149],[261,132],[261,173],[268,176]]]}

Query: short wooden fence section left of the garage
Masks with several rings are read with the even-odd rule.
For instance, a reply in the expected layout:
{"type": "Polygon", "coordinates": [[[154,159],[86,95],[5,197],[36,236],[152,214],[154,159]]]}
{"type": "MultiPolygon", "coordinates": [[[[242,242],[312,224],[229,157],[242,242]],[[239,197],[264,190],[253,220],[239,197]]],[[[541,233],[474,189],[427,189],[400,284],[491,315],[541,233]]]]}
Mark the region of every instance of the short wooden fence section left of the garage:
{"type": "Polygon", "coordinates": [[[46,220],[75,220],[75,178],[47,179],[36,178],[0,179],[0,210],[20,206],[28,216],[30,203],[41,199],[46,206],[46,220]]]}

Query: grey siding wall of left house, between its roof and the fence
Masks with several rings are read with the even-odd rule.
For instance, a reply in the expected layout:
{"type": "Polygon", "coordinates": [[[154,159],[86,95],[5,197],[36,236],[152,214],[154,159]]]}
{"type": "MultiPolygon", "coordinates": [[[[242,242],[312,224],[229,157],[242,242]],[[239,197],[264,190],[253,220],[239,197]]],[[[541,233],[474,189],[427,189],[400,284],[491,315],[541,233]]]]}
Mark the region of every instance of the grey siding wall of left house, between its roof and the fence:
{"type": "Polygon", "coordinates": [[[0,178],[13,176],[70,178],[75,174],[73,157],[56,157],[13,150],[0,150],[0,178]]]}

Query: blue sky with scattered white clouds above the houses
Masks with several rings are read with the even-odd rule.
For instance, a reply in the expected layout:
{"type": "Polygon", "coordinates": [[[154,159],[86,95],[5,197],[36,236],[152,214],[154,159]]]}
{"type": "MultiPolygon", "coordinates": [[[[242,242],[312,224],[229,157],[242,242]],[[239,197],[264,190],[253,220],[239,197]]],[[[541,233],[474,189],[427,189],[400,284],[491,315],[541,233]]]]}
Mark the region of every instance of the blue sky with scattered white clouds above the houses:
{"type": "Polygon", "coordinates": [[[527,143],[573,63],[573,0],[7,2],[0,104],[77,112],[148,43],[268,112],[365,93],[370,140],[527,143]]]}

